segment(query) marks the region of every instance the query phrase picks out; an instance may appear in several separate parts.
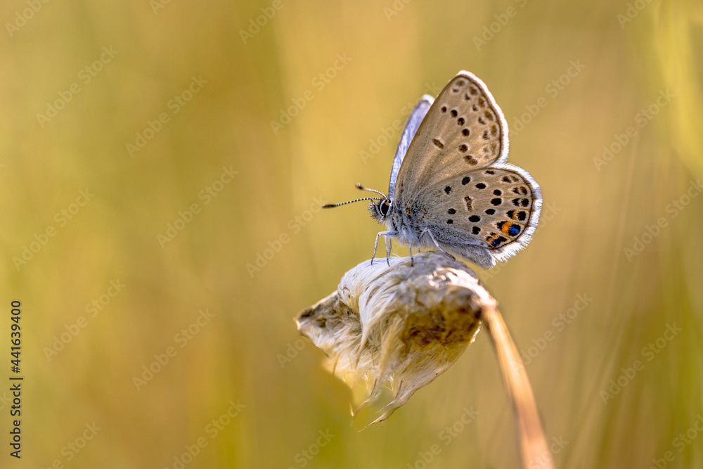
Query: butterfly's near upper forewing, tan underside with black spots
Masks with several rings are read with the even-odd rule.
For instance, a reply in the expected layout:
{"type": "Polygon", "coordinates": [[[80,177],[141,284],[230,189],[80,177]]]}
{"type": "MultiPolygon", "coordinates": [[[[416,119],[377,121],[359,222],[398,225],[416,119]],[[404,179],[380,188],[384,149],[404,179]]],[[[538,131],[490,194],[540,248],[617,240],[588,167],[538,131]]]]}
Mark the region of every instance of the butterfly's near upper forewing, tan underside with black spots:
{"type": "Polygon", "coordinates": [[[505,117],[486,85],[460,72],[441,91],[420,125],[399,171],[396,198],[502,162],[508,153],[505,117]]]}

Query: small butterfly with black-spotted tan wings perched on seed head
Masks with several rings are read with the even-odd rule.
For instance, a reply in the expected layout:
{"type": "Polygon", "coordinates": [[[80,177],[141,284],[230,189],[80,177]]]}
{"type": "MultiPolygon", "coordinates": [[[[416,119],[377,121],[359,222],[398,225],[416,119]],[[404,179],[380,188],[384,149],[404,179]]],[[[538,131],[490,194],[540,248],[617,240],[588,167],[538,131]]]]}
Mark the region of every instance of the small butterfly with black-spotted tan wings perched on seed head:
{"type": "Polygon", "coordinates": [[[413,109],[393,159],[388,195],[371,200],[371,217],[391,239],[410,248],[438,248],[490,268],[524,248],[534,233],[542,197],[538,184],[508,160],[508,123],[486,84],[461,71],[437,99],[413,109]]]}

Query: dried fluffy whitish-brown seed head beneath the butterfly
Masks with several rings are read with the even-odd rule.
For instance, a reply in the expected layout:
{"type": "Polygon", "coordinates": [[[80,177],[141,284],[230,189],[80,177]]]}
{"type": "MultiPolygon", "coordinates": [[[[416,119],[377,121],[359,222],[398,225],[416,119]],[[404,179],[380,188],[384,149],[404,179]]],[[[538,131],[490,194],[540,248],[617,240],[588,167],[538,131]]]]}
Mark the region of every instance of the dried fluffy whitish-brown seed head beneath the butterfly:
{"type": "Polygon", "coordinates": [[[347,272],[337,293],[302,311],[300,333],[328,355],[326,365],[350,387],[366,381],[361,406],[387,381],[394,399],[380,422],[437,378],[473,342],[487,303],[495,300],[461,262],[435,252],[347,272]]]}

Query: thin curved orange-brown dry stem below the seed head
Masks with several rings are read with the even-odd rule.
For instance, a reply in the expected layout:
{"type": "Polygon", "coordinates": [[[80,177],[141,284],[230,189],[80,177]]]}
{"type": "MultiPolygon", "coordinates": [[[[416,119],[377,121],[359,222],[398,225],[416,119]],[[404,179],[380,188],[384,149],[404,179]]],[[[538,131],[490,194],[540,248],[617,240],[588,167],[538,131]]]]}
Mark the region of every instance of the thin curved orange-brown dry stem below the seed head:
{"type": "Polygon", "coordinates": [[[483,299],[486,309],[483,311],[482,321],[491,336],[494,347],[496,347],[496,355],[501,365],[505,387],[508,388],[512,398],[512,406],[515,409],[520,434],[522,463],[524,468],[529,469],[553,469],[554,464],[520,353],[517,352],[515,342],[512,342],[512,338],[510,338],[510,332],[503,321],[501,311],[496,308],[496,300],[490,295],[487,296],[483,299]]]}

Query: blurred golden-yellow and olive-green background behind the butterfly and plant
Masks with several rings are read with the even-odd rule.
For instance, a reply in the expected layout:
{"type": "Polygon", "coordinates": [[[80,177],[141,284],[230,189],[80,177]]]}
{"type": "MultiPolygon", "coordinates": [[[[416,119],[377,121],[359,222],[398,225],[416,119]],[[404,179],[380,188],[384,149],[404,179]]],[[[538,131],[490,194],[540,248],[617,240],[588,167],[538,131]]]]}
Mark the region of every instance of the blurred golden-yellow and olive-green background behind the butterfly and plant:
{"type": "Polygon", "coordinates": [[[382,228],[321,203],[384,191],[411,106],[463,69],[543,191],[529,248],[479,274],[555,463],[703,464],[699,1],[11,0],[0,18],[3,441],[12,300],[25,376],[2,467],[518,467],[486,335],[359,432],[379,406],[352,423],[293,321],[382,228]]]}

